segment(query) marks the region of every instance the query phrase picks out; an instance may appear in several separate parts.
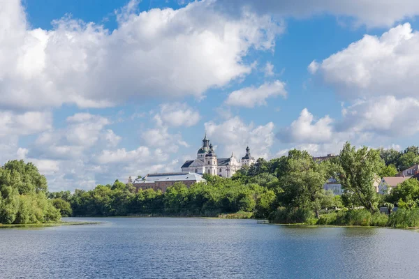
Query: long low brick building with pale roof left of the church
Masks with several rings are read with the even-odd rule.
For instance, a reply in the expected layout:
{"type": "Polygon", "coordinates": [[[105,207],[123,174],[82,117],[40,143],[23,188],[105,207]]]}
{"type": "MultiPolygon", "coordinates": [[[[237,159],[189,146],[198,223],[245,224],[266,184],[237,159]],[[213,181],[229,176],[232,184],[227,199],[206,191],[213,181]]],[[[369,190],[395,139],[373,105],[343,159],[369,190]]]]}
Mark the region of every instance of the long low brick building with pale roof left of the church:
{"type": "Polygon", "coordinates": [[[184,172],[168,172],[165,174],[147,174],[143,178],[135,179],[133,186],[138,191],[139,189],[153,189],[161,190],[163,193],[170,186],[176,182],[182,182],[186,187],[190,187],[193,183],[205,183],[201,174],[184,173],[184,172]]]}

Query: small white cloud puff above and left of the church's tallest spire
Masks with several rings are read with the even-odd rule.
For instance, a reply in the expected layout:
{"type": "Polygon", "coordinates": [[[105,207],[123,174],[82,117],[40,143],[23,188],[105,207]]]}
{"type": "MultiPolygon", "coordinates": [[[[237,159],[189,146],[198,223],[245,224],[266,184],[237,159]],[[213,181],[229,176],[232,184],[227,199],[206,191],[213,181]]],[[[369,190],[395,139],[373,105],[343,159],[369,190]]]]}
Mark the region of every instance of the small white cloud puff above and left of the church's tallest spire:
{"type": "Polygon", "coordinates": [[[160,112],[154,119],[158,125],[191,127],[200,121],[200,115],[186,103],[167,103],[160,106],[160,112]]]}

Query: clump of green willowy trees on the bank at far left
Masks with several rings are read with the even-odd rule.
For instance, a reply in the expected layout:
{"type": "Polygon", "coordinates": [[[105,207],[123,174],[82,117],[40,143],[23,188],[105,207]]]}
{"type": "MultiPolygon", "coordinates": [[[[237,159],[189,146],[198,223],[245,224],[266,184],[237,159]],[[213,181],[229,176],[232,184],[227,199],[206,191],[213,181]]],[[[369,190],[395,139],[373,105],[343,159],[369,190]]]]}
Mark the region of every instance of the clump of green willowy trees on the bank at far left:
{"type": "Polygon", "coordinates": [[[32,164],[9,161],[0,168],[0,223],[54,222],[59,209],[47,199],[47,180],[32,164]]]}

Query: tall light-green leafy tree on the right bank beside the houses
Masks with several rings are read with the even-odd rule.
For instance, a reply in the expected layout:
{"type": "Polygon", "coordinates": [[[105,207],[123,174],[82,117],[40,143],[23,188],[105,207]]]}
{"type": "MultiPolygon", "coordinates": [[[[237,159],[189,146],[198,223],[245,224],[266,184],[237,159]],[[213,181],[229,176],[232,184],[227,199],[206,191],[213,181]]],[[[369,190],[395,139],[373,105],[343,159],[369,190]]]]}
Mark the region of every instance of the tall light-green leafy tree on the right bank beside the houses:
{"type": "Polygon", "coordinates": [[[365,209],[377,211],[378,198],[374,182],[377,181],[377,172],[384,165],[380,151],[366,146],[357,150],[346,142],[339,154],[339,165],[337,181],[346,190],[346,195],[365,209]]]}

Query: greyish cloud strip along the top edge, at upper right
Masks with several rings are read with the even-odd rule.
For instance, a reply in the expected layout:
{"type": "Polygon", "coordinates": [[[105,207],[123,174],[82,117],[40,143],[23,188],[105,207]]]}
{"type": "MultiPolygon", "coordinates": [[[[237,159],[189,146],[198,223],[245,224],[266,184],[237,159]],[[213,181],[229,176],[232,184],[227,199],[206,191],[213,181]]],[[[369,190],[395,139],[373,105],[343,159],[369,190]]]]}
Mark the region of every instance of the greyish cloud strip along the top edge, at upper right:
{"type": "Polygon", "coordinates": [[[329,14],[349,17],[355,26],[366,24],[367,27],[389,27],[402,20],[419,15],[419,3],[416,0],[219,0],[223,9],[237,10],[237,6],[249,6],[260,14],[273,14],[279,17],[311,17],[329,14]]]}

